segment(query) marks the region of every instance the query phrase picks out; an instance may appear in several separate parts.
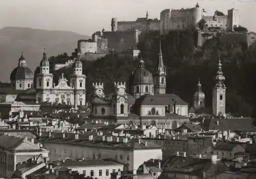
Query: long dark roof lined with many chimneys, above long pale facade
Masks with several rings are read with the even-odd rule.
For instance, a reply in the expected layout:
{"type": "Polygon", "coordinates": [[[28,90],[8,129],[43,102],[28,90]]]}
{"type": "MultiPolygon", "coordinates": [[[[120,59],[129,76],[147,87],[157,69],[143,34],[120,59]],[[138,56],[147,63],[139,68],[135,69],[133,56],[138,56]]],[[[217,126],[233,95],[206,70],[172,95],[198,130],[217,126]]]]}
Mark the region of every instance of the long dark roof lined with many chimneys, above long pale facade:
{"type": "Polygon", "coordinates": [[[127,139],[126,143],[123,143],[124,137],[119,137],[119,142],[117,142],[117,137],[112,136],[112,141],[108,142],[107,136],[111,136],[111,133],[103,134],[105,140],[102,141],[103,136],[93,135],[93,139],[89,140],[89,135],[92,133],[78,134],[78,139],[75,139],[76,134],[66,134],[67,137],[62,138],[62,133],[54,134],[53,137],[47,138],[45,143],[60,143],[60,144],[71,144],[71,145],[81,145],[81,146],[96,146],[104,148],[126,148],[126,149],[161,149],[157,144],[147,142],[145,146],[145,141],[142,139],[132,138],[127,139]]]}

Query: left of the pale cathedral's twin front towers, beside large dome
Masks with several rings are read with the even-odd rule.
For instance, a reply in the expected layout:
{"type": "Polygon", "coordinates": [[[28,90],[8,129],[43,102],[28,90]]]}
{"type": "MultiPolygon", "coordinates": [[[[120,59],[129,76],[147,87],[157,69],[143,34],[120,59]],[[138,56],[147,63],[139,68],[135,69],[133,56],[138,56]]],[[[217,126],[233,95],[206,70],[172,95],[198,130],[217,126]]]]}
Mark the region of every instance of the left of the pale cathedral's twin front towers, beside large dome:
{"type": "Polygon", "coordinates": [[[40,73],[36,76],[36,101],[44,102],[53,99],[52,96],[47,96],[46,93],[50,93],[53,88],[53,74],[50,73],[50,63],[47,59],[46,50],[42,54],[42,60],[40,62],[40,73]]]}

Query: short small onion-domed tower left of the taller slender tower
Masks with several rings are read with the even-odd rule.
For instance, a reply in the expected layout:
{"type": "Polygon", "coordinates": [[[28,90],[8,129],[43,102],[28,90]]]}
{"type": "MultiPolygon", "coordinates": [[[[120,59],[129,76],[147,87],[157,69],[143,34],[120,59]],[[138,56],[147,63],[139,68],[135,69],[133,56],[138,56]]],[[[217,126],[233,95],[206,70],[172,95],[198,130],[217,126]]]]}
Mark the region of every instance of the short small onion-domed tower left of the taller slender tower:
{"type": "Polygon", "coordinates": [[[205,95],[202,92],[202,85],[200,83],[200,79],[198,79],[197,91],[193,96],[193,108],[198,110],[204,107],[205,107],[205,95]]]}

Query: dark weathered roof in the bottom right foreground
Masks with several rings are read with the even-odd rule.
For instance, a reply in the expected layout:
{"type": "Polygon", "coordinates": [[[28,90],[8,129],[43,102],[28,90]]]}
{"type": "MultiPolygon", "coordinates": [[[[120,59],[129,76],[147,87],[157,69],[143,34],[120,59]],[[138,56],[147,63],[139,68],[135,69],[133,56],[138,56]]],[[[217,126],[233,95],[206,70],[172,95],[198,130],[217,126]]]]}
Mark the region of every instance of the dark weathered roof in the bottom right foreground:
{"type": "MultiPolygon", "coordinates": [[[[228,167],[221,161],[212,162],[211,159],[205,158],[189,158],[173,156],[163,163],[163,171],[172,173],[187,173],[194,176],[203,176],[203,171],[214,168],[215,173],[220,171],[229,171],[228,167]]],[[[210,174],[215,174],[210,173],[210,174]]]]}

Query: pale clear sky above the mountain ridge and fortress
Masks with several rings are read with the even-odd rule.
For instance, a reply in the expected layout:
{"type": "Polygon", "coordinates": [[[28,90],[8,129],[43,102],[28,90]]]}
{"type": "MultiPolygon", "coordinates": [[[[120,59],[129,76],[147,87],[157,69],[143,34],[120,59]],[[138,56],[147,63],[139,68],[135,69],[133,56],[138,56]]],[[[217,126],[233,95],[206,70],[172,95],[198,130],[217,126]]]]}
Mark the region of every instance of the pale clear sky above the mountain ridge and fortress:
{"type": "Polygon", "coordinates": [[[133,21],[137,17],[160,19],[164,9],[191,8],[199,5],[207,15],[214,11],[239,10],[240,24],[256,32],[256,0],[0,0],[0,28],[72,31],[81,35],[111,30],[111,18],[133,21]]]}

